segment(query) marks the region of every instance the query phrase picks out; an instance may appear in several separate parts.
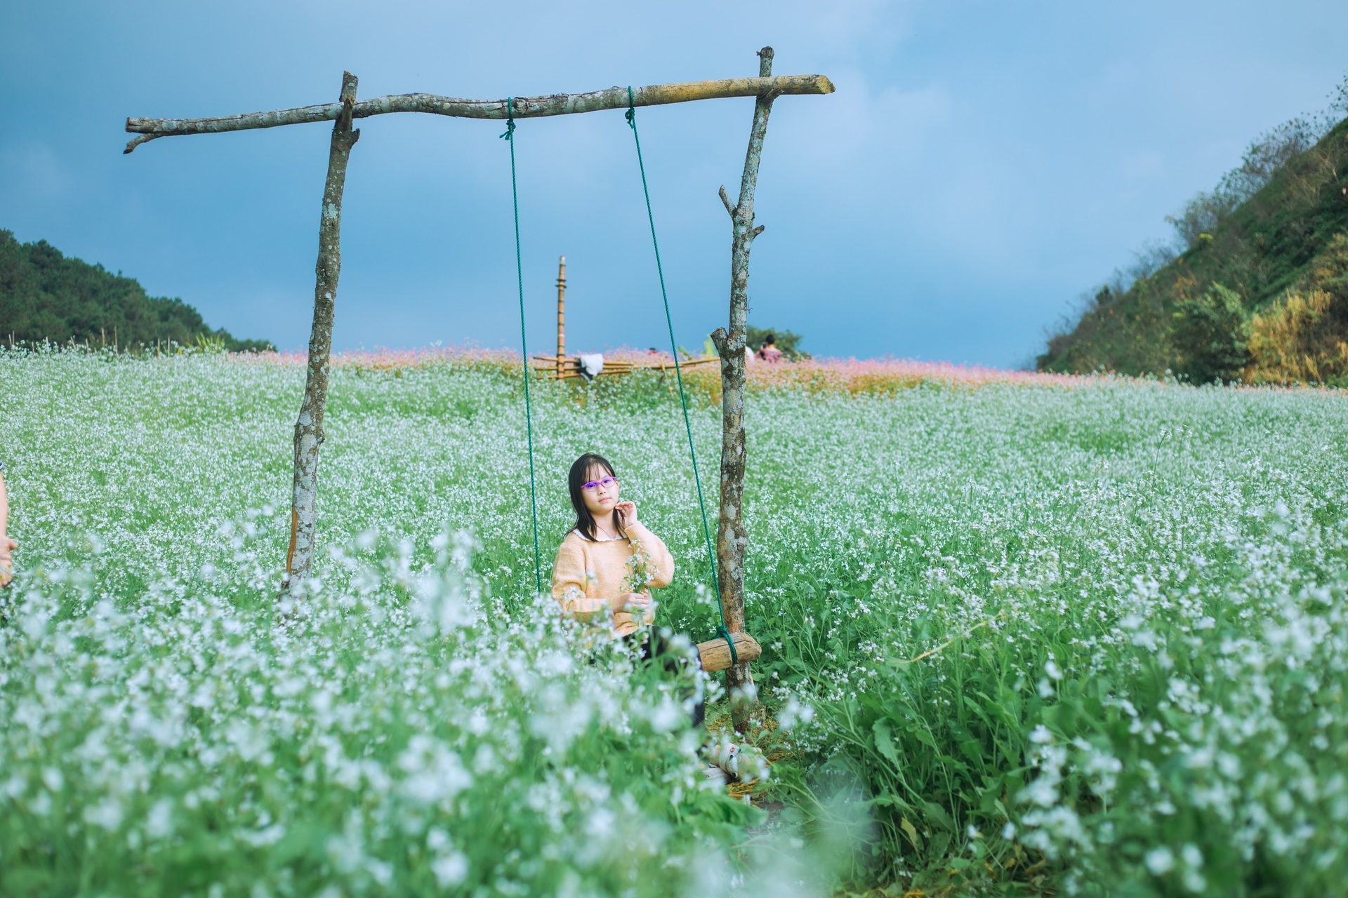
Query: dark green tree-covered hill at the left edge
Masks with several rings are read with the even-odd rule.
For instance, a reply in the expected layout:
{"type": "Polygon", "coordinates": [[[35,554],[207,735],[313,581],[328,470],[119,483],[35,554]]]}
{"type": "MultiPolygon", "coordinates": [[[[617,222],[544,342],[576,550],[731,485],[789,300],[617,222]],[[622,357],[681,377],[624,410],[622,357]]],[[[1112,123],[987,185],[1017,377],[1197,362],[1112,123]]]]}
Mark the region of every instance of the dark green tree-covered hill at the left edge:
{"type": "Polygon", "coordinates": [[[125,349],[200,341],[231,351],[271,349],[267,341],[212,330],[187,303],[148,296],[132,277],[62,256],[44,240],[20,244],[0,230],[0,341],[111,346],[113,335],[125,349]]]}

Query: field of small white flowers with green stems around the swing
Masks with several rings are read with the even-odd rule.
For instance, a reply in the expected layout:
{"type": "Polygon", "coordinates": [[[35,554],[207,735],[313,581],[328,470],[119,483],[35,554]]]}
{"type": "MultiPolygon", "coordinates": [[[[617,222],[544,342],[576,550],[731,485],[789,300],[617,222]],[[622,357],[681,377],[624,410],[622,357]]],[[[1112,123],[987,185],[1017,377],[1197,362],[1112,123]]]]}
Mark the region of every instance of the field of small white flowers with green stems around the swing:
{"type": "MultiPolygon", "coordinates": [[[[1348,397],[1122,380],[749,394],[771,777],[534,596],[518,364],[0,350],[0,894],[1333,894],[1348,397]],[[775,731],[774,731],[775,727],[775,731]]],[[[543,578],[607,455],[716,627],[677,400],[539,381],[543,578]]],[[[716,494],[720,411],[693,429],[716,494]]],[[[712,688],[712,714],[727,701],[712,688]]]]}

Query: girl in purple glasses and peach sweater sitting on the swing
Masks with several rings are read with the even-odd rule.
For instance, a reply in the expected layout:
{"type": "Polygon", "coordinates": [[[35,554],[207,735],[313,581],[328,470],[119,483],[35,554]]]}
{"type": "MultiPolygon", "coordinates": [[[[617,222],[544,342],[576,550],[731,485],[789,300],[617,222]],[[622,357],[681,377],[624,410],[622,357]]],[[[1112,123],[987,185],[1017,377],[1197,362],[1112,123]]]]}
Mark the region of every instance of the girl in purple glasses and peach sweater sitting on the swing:
{"type": "Polygon", "coordinates": [[[674,580],[674,557],[636,518],[636,505],[619,499],[617,477],[604,456],[581,455],[566,479],[576,526],[557,549],[553,598],[580,621],[612,618],[613,633],[630,635],[651,622],[650,590],[674,580]]]}

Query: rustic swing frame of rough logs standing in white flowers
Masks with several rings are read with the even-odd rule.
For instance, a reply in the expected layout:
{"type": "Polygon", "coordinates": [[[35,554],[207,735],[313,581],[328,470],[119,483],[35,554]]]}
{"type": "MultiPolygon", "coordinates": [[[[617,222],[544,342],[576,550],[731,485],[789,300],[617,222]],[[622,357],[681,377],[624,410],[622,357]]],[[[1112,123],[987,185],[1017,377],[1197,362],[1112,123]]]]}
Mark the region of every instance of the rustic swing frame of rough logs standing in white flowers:
{"type": "MultiPolygon", "coordinates": [[[[748,662],[762,653],[758,642],[744,633],[744,555],[748,532],[744,526],[744,345],[748,323],[748,263],[754,238],[763,226],[754,223],[754,191],[758,184],[759,159],[767,133],[772,101],[785,94],[829,94],[833,83],[824,75],[772,75],[772,48],[759,53],[758,78],[727,78],[690,83],[652,85],[647,88],[609,88],[582,94],[549,94],[542,97],[514,97],[507,100],[458,100],[435,94],[400,94],[356,101],[356,77],[342,74],[337,102],[301,109],[279,109],[214,118],[127,118],[127,131],[139,135],[132,139],[125,153],[140,144],[159,137],[221,133],[275,128],[305,123],[333,121],[332,145],[328,156],[328,178],[324,184],[322,213],[318,225],[318,263],[314,284],[314,320],[309,338],[305,394],[295,423],[295,471],[291,497],[290,549],[286,553],[283,588],[294,594],[299,582],[309,575],[317,548],[318,455],[324,443],[324,412],[328,404],[329,357],[332,354],[333,308],[337,281],[341,273],[341,201],[346,182],[346,166],[360,131],[352,128],[356,118],[395,113],[421,112],[464,118],[532,118],[563,116],[600,109],[627,109],[675,102],[692,102],[724,97],[755,97],[754,123],[749,129],[744,174],[740,179],[739,202],[731,205],[725,187],[720,198],[731,217],[731,315],[729,329],[718,327],[712,334],[721,362],[721,497],[716,539],[716,560],[720,571],[721,603],[727,627],[735,641],[737,664],[731,662],[727,640],[710,640],[698,646],[702,668],[727,670],[727,685],[735,689],[752,684],[748,662]],[[743,646],[743,648],[741,648],[743,646]],[[724,657],[723,657],[724,654],[724,657]]],[[[561,327],[561,322],[558,322],[561,327]]],[[[561,353],[551,359],[557,370],[562,366],[561,353]]],[[[710,361],[710,359],[704,359],[710,361]]],[[[526,359],[526,365],[528,359],[526,359]]],[[[736,727],[743,718],[736,716],[736,727]]]]}

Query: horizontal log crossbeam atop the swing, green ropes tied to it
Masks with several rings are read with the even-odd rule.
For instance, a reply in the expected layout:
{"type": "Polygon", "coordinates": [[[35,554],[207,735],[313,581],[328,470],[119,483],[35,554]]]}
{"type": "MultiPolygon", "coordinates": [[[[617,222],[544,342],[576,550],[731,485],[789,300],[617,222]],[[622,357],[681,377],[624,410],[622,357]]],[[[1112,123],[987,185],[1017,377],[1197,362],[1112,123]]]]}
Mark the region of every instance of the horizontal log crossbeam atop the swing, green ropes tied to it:
{"type": "MultiPolygon", "coordinates": [[[[724,78],[721,81],[692,81],[677,85],[632,88],[632,105],[663,106],[673,102],[720,100],[725,97],[825,93],[833,93],[833,82],[824,75],[724,78]]],[[[607,90],[593,90],[590,93],[515,97],[514,112],[516,118],[538,118],[542,116],[599,112],[600,109],[627,109],[627,88],[608,88],[607,90]]],[[[128,143],[124,152],[131,152],[140,144],[156,137],[213,135],[225,131],[251,131],[253,128],[276,128],[278,125],[302,125],[313,121],[334,121],[340,112],[341,104],[329,102],[321,106],[251,112],[241,116],[220,116],[216,118],[127,118],[127,131],[142,136],[128,143]]],[[[356,104],[352,117],[368,118],[369,116],[381,116],[391,112],[425,112],[434,116],[453,116],[457,118],[507,118],[510,114],[506,100],[457,100],[430,93],[404,93],[392,97],[361,100],[356,104]]]]}

